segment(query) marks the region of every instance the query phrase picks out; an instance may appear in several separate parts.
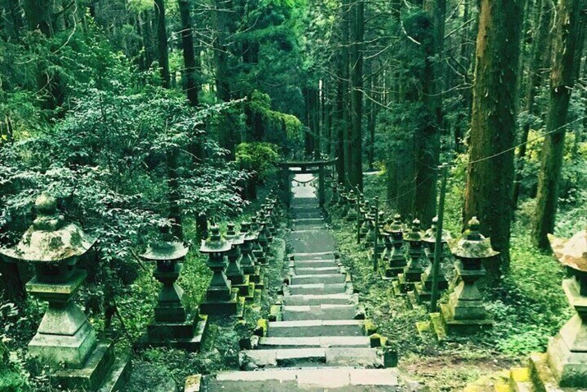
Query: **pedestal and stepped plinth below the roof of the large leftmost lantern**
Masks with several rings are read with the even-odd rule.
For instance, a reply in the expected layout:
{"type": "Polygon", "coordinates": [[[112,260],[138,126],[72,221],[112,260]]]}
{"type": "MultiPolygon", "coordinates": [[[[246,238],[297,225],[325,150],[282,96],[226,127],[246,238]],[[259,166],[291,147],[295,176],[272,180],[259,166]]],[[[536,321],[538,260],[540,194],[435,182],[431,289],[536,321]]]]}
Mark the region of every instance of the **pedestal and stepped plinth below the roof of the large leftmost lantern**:
{"type": "Polygon", "coordinates": [[[35,276],[26,290],[49,302],[37,334],[28,343],[28,352],[56,368],[52,382],[65,389],[95,391],[106,382],[119,387],[130,373],[129,357],[114,357],[110,341],[97,341],[96,332],[80,308],[71,301],[87,276],[76,270],[67,282],[41,282],[35,276]]]}

